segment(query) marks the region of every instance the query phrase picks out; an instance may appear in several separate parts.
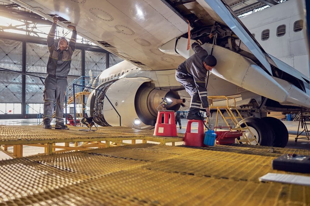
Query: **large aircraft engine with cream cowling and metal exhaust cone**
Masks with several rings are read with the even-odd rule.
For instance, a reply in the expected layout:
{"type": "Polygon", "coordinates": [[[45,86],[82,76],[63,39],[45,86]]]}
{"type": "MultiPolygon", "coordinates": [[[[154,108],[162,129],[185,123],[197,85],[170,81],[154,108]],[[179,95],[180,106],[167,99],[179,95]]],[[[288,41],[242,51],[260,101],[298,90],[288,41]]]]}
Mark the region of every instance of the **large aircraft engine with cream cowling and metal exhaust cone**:
{"type": "Polygon", "coordinates": [[[121,120],[122,126],[131,127],[135,118],[139,118],[141,129],[153,128],[162,98],[173,100],[167,109],[174,111],[180,108],[185,99],[179,99],[175,91],[155,88],[151,81],[149,78],[138,77],[101,84],[96,89],[103,92],[93,90],[87,99],[87,115],[93,116],[94,121],[101,126],[120,126],[121,120]]]}

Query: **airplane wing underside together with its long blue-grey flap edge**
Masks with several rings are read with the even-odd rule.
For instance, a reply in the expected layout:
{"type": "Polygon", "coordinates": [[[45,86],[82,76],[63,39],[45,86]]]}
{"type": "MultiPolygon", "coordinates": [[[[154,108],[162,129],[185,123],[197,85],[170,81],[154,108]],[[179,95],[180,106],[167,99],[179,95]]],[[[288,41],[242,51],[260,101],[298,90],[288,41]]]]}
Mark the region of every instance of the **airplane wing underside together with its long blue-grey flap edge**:
{"type": "Polygon", "coordinates": [[[272,58],[223,0],[13,1],[50,20],[54,15],[62,17],[62,26],[76,25],[80,36],[142,70],[175,69],[184,61],[175,51],[175,42],[187,35],[187,19],[193,30],[219,22],[229,27],[248,48],[252,60],[272,75],[272,58]]]}

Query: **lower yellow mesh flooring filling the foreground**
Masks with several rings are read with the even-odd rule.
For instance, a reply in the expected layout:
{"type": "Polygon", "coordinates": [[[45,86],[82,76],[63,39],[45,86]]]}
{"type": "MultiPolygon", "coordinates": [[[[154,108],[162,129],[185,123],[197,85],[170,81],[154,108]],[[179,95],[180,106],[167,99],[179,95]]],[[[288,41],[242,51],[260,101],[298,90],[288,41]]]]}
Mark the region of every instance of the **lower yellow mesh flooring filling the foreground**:
{"type": "MultiPolygon", "coordinates": [[[[260,183],[289,150],[137,144],[0,162],[0,205],[308,205],[310,187],[260,183]]],[[[305,150],[296,153],[308,154],[305,150]]]]}

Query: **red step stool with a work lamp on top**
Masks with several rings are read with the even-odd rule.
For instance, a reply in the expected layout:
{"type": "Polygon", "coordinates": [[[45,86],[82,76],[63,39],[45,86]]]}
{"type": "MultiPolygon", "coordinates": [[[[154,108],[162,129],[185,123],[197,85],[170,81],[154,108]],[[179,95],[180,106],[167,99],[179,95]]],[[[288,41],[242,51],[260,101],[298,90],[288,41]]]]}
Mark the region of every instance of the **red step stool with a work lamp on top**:
{"type": "Polygon", "coordinates": [[[177,137],[174,111],[158,111],[154,136],[177,137]],[[164,122],[162,122],[164,115],[164,122]],[[170,117],[170,118],[169,118],[170,117]],[[170,119],[170,123],[169,123],[170,119]]]}

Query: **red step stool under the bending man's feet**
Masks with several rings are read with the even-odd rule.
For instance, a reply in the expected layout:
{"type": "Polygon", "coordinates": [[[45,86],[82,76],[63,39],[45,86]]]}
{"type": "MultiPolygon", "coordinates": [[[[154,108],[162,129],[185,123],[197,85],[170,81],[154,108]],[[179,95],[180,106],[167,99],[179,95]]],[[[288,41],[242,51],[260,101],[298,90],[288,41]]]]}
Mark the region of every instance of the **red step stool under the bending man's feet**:
{"type": "Polygon", "coordinates": [[[203,144],[203,140],[205,138],[205,132],[203,131],[203,128],[202,120],[188,120],[183,145],[191,147],[207,147],[205,144],[203,144]],[[198,122],[198,133],[191,132],[193,122],[198,122]]]}

